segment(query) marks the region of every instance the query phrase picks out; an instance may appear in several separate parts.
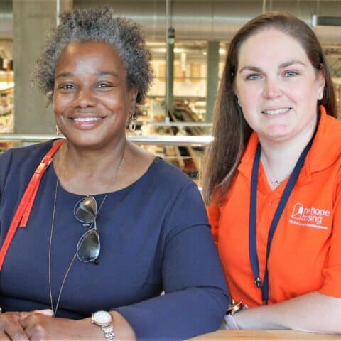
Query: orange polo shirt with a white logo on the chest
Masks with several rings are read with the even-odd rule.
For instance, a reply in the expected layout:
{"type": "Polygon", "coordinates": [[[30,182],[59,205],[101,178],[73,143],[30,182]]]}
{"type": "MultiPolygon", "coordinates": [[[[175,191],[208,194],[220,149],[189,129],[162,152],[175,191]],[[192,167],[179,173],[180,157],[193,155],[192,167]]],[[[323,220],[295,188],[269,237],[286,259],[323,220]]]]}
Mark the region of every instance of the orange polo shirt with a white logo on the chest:
{"type": "MultiPolygon", "coordinates": [[[[232,298],[261,305],[249,261],[251,171],[258,137],[253,133],[236,178],[220,205],[210,205],[212,234],[232,298]]],[[[269,255],[269,304],[312,291],[341,298],[341,121],[321,109],[313,145],[278,222],[269,255]]],[[[260,163],[256,245],[264,276],[271,221],[286,182],[269,188],[260,163]]]]}

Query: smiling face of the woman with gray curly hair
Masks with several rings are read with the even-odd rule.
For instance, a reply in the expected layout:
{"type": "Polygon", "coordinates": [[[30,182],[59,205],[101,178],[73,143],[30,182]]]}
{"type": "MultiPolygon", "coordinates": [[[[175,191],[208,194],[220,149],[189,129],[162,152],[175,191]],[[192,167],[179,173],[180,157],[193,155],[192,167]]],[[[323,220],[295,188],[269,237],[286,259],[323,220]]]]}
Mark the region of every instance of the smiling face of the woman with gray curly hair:
{"type": "Polygon", "coordinates": [[[107,43],[70,43],[55,68],[53,112],[67,139],[77,146],[101,147],[125,138],[136,88],[128,90],[126,70],[107,43]]]}

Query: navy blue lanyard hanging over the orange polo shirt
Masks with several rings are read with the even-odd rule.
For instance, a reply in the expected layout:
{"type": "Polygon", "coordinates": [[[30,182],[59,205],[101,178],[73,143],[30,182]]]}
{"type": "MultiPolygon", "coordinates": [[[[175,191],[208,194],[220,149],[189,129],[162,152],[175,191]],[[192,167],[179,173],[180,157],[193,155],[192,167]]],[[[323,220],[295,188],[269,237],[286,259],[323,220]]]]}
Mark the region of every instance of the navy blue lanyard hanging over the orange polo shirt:
{"type": "Polygon", "coordinates": [[[259,261],[257,255],[257,246],[256,246],[256,205],[257,205],[257,183],[258,183],[258,171],[259,171],[259,161],[261,160],[261,145],[258,144],[256,149],[256,156],[254,157],[254,166],[252,167],[252,175],[251,175],[251,195],[250,195],[250,217],[249,217],[249,256],[251,262],[252,272],[254,273],[254,283],[258,288],[261,289],[261,299],[264,304],[268,303],[269,298],[269,281],[268,281],[268,259],[270,254],[270,247],[272,238],[274,237],[274,233],[278,224],[279,219],[283,213],[284,207],[286,207],[286,203],[291,195],[293,187],[295,186],[298,175],[303,167],[303,163],[305,161],[305,157],[308,154],[308,151],[313,144],[313,138],[310,139],[308,145],[304,148],[301,156],[298,158],[298,161],[293,168],[293,173],[291,173],[288,183],[286,184],[286,188],[283,191],[283,195],[281,200],[278,203],[278,207],[276,209],[274,218],[272,219],[268,242],[266,244],[266,263],[265,263],[265,271],[264,271],[264,280],[261,283],[261,278],[259,277],[259,261]]]}

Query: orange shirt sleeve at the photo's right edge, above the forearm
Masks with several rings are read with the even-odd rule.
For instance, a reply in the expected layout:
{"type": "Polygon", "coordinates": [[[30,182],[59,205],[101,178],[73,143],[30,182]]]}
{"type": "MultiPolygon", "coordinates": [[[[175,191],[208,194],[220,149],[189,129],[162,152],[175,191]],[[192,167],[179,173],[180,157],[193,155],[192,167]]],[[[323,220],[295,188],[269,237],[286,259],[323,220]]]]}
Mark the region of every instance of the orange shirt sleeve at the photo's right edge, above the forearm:
{"type": "Polygon", "coordinates": [[[323,269],[324,283],[319,291],[341,298],[341,171],[334,202],[330,249],[323,269]]]}

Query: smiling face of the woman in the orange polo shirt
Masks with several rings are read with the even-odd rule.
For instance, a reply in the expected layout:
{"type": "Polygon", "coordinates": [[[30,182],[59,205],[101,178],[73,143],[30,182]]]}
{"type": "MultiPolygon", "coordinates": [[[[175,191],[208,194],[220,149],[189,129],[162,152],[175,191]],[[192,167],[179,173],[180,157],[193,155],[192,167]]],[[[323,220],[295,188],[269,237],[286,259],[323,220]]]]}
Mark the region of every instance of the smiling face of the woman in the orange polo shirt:
{"type": "Polygon", "coordinates": [[[239,49],[234,91],[261,142],[312,136],[324,85],[298,40],[275,28],[255,33],[239,49]]]}

